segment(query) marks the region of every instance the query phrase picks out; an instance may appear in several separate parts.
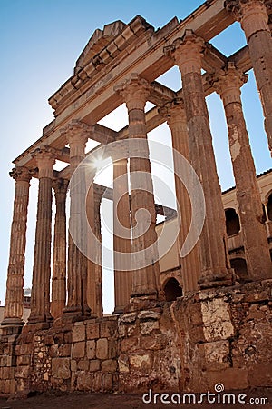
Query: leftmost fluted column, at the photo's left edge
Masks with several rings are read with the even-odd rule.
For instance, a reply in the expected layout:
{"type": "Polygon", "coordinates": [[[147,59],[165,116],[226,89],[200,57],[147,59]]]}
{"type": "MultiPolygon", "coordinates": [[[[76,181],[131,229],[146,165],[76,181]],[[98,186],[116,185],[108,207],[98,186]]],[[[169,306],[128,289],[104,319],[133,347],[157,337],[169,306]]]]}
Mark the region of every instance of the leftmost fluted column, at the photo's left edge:
{"type": "Polygon", "coordinates": [[[10,235],[4,320],[1,324],[21,326],[24,324],[22,320],[24,310],[24,252],[29,182],[32,172],[25,167],[16,167],[10,172],[10,175],[15,179],[15,201],[10,235]]]}

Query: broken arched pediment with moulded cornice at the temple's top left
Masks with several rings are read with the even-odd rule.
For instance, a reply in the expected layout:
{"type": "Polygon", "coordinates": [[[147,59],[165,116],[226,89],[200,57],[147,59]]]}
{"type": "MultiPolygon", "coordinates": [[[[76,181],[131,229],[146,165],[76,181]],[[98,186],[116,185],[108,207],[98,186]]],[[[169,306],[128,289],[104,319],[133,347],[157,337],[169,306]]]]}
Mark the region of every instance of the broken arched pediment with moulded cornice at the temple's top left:
{"type": "Polygon", "coordinates": [[[111,71],[117,59],[119,64],[123,57],[130,55],[131,50],[145,41],[146,34],[151,35],[153,32],[154,27],[141,15],[133,18],[128,25],[117,21],[112,25],[105,25],[103,31],[95,30],[77,60],[74,75],[49,99],[55,115],[63,112],[63,109],[73,103],[78,95],[82,95],[92,85],[97,84],[99,81],[97,76],[103,76],[105,72],[111,71]]]}

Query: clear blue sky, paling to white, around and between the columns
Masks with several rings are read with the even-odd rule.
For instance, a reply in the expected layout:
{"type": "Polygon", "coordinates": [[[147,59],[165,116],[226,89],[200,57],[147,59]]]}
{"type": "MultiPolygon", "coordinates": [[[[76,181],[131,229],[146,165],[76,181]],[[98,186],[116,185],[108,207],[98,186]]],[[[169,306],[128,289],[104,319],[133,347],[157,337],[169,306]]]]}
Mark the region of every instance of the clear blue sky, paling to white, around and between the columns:
{"type": "MultiPolygon", "coordinates": [[[[2,195],[0,211],[0,300],[5,301],[5,279],[12,221],[14,182],[8,172],[12,161],[42,135],[53,119],[48,98],[73,74],[73,66],[96,28],[115,20],[129,23],[143,16],[156,29],[175,15],[183,19],[203,2],[199,0],[0,0],[0,89],[1,89],[1,160],[2,195]]],[[[226,55],[245,45],[238,23],[212,40],[226,55]]],[[[172,70],[161,79],[165,85],[180,88],[180,74],[172,70]]],[[[255,79],[249,73],[242,99],[257,173],[271,167],[267,136],[255,79]]],[[[224,112],[218,95],[207,98],[219,179],[222,189],[234,185],[228,154],[224,112]]],[[[110,126],[110,125],[109,125],[110,126]]],[[[154,139],[168,133],[166,125],[154,139]]],[[[163,138],[163,136],[162,136],[163,138]]],[[[35,186],[36,181],[32,182],[35,186]]],[[[36,189],[31,188],[26,251],[25,285],[31,285],[36,213],[36,189]]],[[[109,290],[111,291],[111,290],[109,290]]],[[[111,302],[112,303],[112,302],[111,302]]],[[[112,304],[106,310],[112,310],[112,304]]]]}

